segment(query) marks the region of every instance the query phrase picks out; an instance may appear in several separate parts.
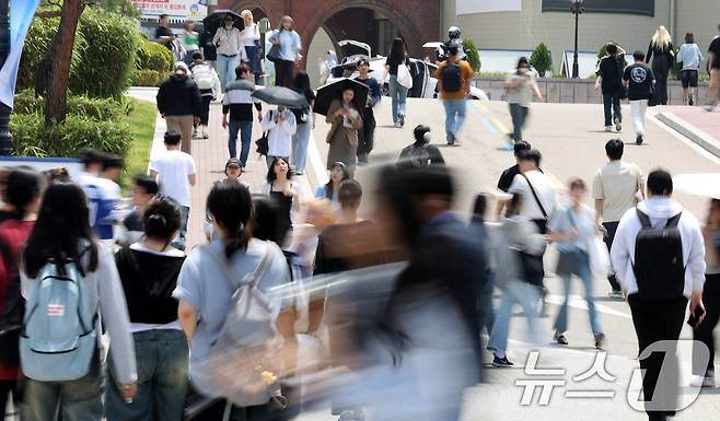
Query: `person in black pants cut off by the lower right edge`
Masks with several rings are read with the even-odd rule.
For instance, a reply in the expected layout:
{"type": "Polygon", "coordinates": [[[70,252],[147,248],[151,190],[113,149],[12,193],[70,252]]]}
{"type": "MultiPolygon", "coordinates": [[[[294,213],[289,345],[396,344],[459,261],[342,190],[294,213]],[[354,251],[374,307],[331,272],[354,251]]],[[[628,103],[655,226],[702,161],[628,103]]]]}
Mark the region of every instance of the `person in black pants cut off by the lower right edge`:
{"type": "Polygon", "coordinates": [[[693,351],[693,374],[699,377],[702,387],[715,387],[715,335],[712,331],[720,320],[720,199],[710,200],[710,210],[705,227],[705,285],[702,286],[702,304],[705,304],[705,319],[693,330],[693,347],[697,342],[704,343],[710,351],[710,361],[707,365],[700,363],[698,353],[693,351]]]}

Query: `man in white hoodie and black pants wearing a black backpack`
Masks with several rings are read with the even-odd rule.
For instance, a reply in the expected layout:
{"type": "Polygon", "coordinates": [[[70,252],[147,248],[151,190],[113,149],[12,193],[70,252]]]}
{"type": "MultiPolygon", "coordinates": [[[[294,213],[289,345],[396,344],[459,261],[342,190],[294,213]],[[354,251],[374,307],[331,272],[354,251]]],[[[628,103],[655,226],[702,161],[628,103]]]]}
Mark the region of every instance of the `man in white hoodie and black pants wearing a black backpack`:
{"type": "Polygon", "coordinates": [[[658,379],[661,370],[671,374],[667,370],[676,366],[670,356],[675,351],[664,349],[665,355],[652,352],[647,358],[642,353],[650,346],[658,347],[658,341],[678,339],[688,300],[696,325],[702,320],[705,244],[695,217],[671,198],[670,173],[653,171],[647,186],[648,199],[620,220],[611,259],[632,313],[640,369],[644,370],[646,412],[650,421],[663,421],[674,414],[677,382],[658,379]]]}

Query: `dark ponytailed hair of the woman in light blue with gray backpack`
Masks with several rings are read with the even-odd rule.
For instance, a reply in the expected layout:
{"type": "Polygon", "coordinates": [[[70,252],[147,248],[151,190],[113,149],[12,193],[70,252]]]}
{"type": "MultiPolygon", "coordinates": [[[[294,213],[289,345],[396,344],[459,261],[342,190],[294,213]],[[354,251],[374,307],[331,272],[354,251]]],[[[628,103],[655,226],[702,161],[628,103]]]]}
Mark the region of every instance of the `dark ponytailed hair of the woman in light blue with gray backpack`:
{"type": "Polygon", "coordinates": [[[237,250],[247,249],[253,218],[253,199],[247,187],[240,183],[216,183],[206,207],[224,231],[225,257],[230,259],[237,250]]]}

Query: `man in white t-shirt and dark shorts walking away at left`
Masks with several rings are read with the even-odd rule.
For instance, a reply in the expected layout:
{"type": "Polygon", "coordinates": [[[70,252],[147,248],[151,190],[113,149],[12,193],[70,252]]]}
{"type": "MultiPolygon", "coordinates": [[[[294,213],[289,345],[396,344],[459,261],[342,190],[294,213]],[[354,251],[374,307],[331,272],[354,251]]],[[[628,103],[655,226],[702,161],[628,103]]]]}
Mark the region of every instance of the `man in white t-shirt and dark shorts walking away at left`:
{"type": "Polygon", "coordinates": [[[195,160],[179,150],[181,138],[174,131],[165,133],[165,153],[150,161],[150,176],[160,185],[160,194],[175,200],[183,210],[179,237],[173,247],[185,249],[185,234],[190,215],[190,187],[195,186],[195,160]]]}

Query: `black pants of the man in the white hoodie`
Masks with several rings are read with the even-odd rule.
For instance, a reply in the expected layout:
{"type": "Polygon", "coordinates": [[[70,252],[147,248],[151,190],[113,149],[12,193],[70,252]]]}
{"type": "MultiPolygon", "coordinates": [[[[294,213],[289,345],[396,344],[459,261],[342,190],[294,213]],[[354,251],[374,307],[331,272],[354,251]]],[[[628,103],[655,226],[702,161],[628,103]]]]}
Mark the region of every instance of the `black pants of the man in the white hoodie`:
{"type": "MultiPolygon", "coordinates": [[[[638,294],[631,294],[627,301],[630,304],[632,324],[638,336],[639,353],[642,353],[646,348],[657,341],[677,340],[680,338],[680,332],[683,329],[683,323],[685,320],[687,299],[646,301],[638,294]]],[[[659,391],[660,395],[655,400],[663,402],[670,408],[675,406],[677,401],[677,382],[658,384],[663,363],[665,364],[665,370],[672,370],[675,373],[678,370],[675,350],[672,349],[669,351],[666,354],[653,352],[644,360],[640,360],[640,369],[644,370],[642,393],[646,402],[649,402],[655,391],[659,391]]],[[[666,411],[652,410],[648,408],[648,404],[646,404],[646,412],[648,412],[650,421],[665,420],[666,411]]]]}

